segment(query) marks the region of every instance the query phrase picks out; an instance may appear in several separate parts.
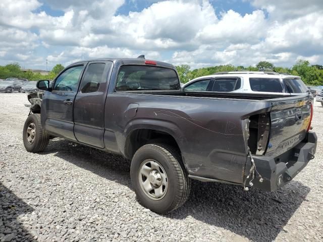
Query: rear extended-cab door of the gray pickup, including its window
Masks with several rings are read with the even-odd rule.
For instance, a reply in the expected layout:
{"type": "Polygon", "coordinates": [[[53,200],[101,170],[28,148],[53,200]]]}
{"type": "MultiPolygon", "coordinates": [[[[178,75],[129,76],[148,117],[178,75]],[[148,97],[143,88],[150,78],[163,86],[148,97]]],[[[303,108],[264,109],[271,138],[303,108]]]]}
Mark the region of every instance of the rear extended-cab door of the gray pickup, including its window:
{"type": "Polygon", "coordinates": [[[104,104],[112,62],[90,62],[74,103],[74,134],[77,141],[104,148],[104,104]]]}

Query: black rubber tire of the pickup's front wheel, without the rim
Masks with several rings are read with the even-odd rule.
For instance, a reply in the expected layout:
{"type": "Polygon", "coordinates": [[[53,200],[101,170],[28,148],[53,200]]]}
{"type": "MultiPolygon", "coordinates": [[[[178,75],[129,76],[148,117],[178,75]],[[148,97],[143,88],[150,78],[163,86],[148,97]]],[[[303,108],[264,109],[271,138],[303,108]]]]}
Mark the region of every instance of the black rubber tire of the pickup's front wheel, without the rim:
{"type": "Polygon", "coordinates": [[[30,114],[25,122],[24,130],[23,130],[23,141],[24,146],[27,151],[37,153],[43,151],[49,142],[49,135],[46,131],[43,130],[40,122],[40,114],[33,113],[30,114]],[[27,129],[28,127],[34,124],[34,140],[33,142],[28,141],[27,129]]]}

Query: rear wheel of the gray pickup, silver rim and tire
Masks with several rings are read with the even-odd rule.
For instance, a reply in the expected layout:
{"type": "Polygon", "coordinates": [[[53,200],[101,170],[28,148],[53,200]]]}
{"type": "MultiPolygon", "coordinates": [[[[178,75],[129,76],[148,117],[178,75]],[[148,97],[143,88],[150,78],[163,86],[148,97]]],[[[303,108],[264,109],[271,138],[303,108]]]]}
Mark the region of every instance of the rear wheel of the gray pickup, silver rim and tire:
{"type": "Polygon", "coordinates": [[[171,212],[188,199],[190,179],[180,153],[171,146],[142,146],[131,161],[130,172],[139,202],[153,212],[171,212]]]}

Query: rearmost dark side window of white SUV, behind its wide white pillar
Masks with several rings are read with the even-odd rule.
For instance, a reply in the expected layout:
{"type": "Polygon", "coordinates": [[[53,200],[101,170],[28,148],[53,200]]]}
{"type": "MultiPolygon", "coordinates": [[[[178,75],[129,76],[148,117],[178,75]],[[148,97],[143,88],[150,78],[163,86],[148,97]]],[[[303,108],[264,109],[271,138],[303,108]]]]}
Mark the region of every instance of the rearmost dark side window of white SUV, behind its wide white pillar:
{"type": "Polygon", "coordinates": [[[249,78],[250,87],[255,92],[283,92],[278,78],[249,78]]]}

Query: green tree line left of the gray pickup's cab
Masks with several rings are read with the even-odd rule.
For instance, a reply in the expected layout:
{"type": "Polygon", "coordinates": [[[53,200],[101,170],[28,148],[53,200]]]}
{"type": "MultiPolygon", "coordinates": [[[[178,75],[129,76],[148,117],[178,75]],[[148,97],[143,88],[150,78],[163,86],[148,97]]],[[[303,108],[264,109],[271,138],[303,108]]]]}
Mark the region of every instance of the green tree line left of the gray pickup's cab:
{"type": "Polygon", "coordinates": [[[31,70],[23,71],[19,63],[11,63],[6,66],[0,66],[0,79],[15,77],[15,78],[28,79],[29,81],[38,81],[43,79],[52,80],[63,69],[64,69],[63,65],[57,64],[47,75],[42,75],[40,73],[33,73],[31,70]]]}

